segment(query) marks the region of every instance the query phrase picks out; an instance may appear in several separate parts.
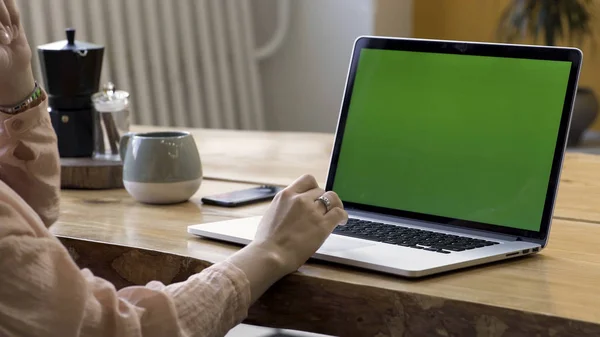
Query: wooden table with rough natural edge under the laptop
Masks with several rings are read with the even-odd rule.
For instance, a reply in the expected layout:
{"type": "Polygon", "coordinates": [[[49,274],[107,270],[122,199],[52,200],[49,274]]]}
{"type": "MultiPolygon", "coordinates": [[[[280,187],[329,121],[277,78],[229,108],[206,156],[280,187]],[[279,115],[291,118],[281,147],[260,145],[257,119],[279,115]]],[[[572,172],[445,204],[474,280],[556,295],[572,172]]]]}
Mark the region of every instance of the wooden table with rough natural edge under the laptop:
{"type": "MultiPolygon", "coordinates": [[[[191,131],[209,179],[189,203],[142,205],[123,190],[63,192],[51,230],[80,266],[117,287],[184,280],[238,249],[188,235],[189,224],[267,207],[202,206],[203,195],[286,185],[303,173],[325,179],[331,135],[191,131]]],[[[569,154],[542,254],[418,281],[310,262],[265,294],[248,322],[338,336],[600,336],[599,287],[600,158],[569,154]]]]}

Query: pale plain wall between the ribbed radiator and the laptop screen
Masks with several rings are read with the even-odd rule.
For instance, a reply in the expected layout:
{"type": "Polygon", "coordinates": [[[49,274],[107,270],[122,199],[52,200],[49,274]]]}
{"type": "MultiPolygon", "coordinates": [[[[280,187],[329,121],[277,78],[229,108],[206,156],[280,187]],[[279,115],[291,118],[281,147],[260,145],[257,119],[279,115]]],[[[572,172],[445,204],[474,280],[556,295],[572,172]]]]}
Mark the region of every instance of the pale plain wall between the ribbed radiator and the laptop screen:
{"type": "MultiPolygon", "coordinates": [[[[257,1],[259,43],[274,29],[277,0],[257,1]]],[[[372,0],[292,0],[285,44],[261,64],[271,130],[333,132],[354,39],[372,34],[372,0]]]]}

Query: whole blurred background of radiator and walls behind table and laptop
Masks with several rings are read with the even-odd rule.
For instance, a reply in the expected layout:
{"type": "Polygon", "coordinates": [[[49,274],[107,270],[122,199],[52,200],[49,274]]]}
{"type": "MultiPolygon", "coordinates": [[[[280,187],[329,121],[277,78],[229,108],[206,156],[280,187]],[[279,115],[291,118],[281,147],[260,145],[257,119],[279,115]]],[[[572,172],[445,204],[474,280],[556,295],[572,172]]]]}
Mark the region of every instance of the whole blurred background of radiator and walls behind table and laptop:
{"type": "Polygon", "coordinates": [[[106,46],[137,124],[333,132],[353,41],[388,35],[580,47],[580,128],[600,132],[594,0],[19,1],[33,47],[67,27],[106,46]]]}

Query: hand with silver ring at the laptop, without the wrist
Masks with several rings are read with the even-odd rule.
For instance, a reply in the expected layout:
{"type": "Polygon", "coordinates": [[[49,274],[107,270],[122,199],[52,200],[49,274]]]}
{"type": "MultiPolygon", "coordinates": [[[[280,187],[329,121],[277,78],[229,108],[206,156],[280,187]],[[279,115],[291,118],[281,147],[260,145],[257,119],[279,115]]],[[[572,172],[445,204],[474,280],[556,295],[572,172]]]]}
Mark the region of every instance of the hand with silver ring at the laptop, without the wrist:
{"type": "Polygon", "coordinates": [[[314,177],[306,175],[275,197],[253,244],[274,252],[289,273],[306,262],[337,225],[347,221],[337,194],[325,192],[314,177]],[[331,202],[329,211],[317,200],[321,196],[331,202]]]}

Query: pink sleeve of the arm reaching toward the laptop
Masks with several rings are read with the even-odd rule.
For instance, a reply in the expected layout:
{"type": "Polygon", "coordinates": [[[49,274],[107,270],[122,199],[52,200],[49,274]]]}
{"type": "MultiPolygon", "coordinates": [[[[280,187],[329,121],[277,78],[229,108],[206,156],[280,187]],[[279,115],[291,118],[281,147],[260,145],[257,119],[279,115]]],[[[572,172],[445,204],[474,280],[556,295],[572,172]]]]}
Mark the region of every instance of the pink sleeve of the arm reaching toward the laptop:
{"type": "Polygon", "coordinates": [[[216,337],[247,315],[248,281],[228,262],[185,282],[117,291],[80,271],[2,182],[0,224],[0,336],[216,337]]]}

